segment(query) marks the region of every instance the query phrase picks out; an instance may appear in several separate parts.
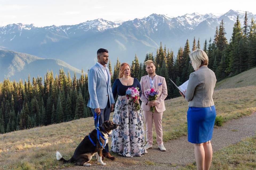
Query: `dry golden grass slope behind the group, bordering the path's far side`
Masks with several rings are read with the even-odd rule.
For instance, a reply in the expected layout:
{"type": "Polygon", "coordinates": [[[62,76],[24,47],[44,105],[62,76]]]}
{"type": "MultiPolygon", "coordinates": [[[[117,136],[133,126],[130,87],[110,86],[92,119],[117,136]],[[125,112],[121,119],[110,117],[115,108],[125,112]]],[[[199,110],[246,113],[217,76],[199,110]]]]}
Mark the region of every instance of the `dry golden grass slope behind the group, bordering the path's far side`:
{"type": "MultiPolygon", "coordinates": [[[[256,111],[255,94],[256,86],[215,91],[213,99],[217,115],[221,115],[227,121],[231,118],[251,114],[256,111]]],[[[178,97],[166,100],[165,104],[163,140],[168,141],[181,135],[186,135],[188,103],[182,97],[178,97]]],[[[60,151],[64,158],[70,158],[84,136],[93,129],[93,118],[89,117],[1,134],[0,169],[15,169],[21,165],[30,169],[57,169],[72,166],[71,164],[62,164],[56,161],[55,151],[60,151]]],[[[120,162],[120,165],[134,163],[125,158],[118,158],[117,161],[120,162]]],[[[136,164],[138,163],[143,164],[143,162],[136,162],[136,164]]],[[[24,168],[19,167],[18,169],[24,168]]]]}

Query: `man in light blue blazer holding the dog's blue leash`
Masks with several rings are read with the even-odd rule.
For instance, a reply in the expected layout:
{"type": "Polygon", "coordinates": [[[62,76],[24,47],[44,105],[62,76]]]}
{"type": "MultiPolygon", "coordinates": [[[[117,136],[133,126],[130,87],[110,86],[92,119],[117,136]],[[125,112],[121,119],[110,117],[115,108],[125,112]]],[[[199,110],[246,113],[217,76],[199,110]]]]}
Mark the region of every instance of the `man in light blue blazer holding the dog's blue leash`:
{"type": "MultiPolygon", "coordinates": [[[[109,120],[110,110],[114,109],[114,97],[112,94],[111,88],[111,73],[106,64],[109,59],[109,54],[106,49],[100,48],[97,51],[98,62],[90,68],[88,72],[88,90],[89,90],[89,101],[87,106],[91,108],[91,112],[97,113],[99,115],[99,125],[104,121],[109,120]]],[[[97,119],[94,120],[95,128],[98,124],[97,119]]],[[[114,156],[111,156],[109,153],[108,145],[105,146],[105,149],[102,150],[102,156],[115,159],[114,156]]]]}

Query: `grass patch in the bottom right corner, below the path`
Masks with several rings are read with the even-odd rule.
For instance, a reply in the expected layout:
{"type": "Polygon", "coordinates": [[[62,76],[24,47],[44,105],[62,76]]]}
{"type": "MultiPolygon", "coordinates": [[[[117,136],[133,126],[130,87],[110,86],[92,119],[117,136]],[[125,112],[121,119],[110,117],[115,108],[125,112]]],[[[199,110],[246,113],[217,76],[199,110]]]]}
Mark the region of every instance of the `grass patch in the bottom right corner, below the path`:
{"type": "MultiPolygon", "coordinates": [[[[179,170],[197,169],[195,163],[187,164],[179,170]]],[[[229,145],[213,153],[210,170],[255,170],[256,135],[229,145]]]]}

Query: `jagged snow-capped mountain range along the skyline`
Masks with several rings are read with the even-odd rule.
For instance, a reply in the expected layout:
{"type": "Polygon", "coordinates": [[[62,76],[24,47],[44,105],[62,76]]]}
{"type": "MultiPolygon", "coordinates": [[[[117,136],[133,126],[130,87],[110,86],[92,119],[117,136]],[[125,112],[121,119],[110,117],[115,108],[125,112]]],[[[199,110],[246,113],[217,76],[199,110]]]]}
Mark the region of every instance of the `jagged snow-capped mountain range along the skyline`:
{"type": "MultiPolygon", "coordinates": [[[[237,16],[243,24],[245,12],[230,10],[225,14],[198,13],[177,17],[151,14],[142,19],[111,22],[103,19],[76,25],[36,27],[33,24],[10,24],[0,27],[0,48],[29,53],[45,58],[61,59],[77,68],[89,69],[99,48],[109,50],[112,63],[116,58],[131,62],[137,54],[142,61],[146,53],[155,53],[160,42],[177,50],[186,39],[192,44],[194,36],[201,46],[214,37],[216,27],[224,20],[229,40],[237,16]],[[2,47],[1,47],[2,46],[2,47]],[[79,61],[79,62],[78,62],[79,61]]],[[[248,24],[256,15],[247,12],[248,24]]]]}

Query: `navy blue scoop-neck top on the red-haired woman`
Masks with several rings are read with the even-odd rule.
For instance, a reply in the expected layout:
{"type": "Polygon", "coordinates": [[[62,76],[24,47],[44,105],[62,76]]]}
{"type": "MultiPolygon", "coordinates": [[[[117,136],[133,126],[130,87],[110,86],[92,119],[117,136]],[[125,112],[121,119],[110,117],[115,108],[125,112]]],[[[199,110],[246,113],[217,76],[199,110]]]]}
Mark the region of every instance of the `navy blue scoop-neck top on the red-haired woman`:
{"type": "Polygon", "coordinates": [[[139,80],[134,78],[133,85],[124,86],[119,79],[115,79],[115,82],[112,86],[112,93],[115,96],[118,94],[119,96],[125,96],[126,89],[129,87],[139,87],[139,97],[141,97],[141,84],[139,84],[139,80]]]}

